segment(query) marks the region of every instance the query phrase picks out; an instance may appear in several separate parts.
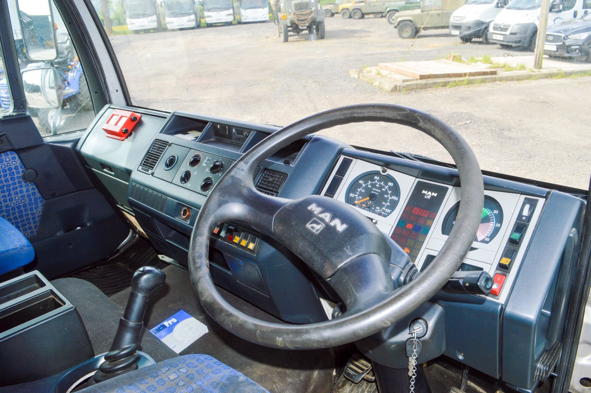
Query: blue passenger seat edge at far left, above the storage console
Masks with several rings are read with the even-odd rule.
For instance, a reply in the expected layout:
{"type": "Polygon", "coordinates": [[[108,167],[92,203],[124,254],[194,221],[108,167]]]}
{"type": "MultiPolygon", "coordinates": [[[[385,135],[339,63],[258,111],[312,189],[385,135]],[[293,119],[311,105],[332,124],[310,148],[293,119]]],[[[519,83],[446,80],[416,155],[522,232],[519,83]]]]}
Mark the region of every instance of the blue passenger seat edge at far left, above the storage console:
{"type": "Polygon", "coordinates": [[[25,236],[0,217],[0,274],[20,268],[35,258],[35,251],[25,236]]]}

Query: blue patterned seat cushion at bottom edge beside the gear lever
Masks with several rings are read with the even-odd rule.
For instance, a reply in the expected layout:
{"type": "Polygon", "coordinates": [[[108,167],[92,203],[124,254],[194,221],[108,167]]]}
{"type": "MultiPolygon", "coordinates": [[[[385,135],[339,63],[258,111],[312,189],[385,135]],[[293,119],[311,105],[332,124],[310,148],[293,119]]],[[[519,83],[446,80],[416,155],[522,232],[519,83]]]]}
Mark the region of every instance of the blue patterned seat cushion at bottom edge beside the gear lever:
{"type": "Polygon", "coordinates": [[[269,393],[208,355],[184,355],[130,371],[79,393],[269,393]]]}

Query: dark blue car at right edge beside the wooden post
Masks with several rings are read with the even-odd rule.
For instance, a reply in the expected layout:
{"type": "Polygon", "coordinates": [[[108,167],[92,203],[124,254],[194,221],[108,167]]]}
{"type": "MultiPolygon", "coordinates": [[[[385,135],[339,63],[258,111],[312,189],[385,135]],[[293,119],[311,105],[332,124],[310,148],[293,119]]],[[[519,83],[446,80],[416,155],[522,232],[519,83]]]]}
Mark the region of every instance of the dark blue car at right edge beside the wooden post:
{"type": "Polygon", "coordinates": [[[591,63],[591,14],[548,27],[544,53],[553,57],[575,57],[591,63]]]}

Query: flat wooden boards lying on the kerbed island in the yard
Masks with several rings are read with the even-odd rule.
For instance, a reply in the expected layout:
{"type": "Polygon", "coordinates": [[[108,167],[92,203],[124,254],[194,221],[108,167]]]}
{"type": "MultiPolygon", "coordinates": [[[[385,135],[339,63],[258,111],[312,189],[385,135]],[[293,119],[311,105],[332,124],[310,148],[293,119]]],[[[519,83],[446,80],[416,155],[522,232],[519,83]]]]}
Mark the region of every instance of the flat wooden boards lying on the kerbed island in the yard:
{"type": "Polygon", "coordinates": [[[457,78],[465,76],[495,75],[496,70],[482,69],[451,60],[400,61],[379,63],[378,67],[415,79],[457,78]]]}

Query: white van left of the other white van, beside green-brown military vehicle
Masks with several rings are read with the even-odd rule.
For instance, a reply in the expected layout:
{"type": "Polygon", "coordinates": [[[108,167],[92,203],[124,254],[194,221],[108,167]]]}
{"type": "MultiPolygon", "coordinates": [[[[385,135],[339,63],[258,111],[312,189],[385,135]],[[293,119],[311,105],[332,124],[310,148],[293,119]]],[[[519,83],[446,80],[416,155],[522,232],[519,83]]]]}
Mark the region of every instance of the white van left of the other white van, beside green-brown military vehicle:
{"type": "Polygon", "coordinates": [[[488,27],[509,0],[469,0],[466,5],[456,9],[449,21],[449,31],[465,43],[472,38],[488,40],[488,27]]]}

